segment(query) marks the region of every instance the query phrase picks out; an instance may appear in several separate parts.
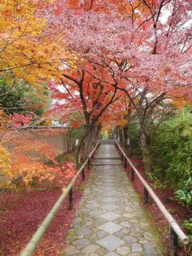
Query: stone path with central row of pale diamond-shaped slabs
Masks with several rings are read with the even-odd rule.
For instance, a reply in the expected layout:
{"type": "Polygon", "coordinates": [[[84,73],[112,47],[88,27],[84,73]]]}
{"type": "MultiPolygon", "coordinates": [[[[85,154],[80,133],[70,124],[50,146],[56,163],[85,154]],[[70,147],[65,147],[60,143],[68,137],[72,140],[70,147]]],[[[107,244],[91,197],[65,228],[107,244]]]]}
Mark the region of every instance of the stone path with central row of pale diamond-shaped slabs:
{"type": "Polygon", "coordinates": [[[60,256],[162,255],[115,145],[101,145],[93,165],[60,256]]]}

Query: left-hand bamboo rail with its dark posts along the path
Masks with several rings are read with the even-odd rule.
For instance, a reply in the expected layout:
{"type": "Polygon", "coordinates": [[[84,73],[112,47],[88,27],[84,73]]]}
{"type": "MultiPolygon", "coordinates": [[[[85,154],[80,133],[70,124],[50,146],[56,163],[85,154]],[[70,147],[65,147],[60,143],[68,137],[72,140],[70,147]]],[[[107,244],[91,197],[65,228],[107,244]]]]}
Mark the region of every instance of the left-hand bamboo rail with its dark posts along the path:
{"type": "Polygon", "coordinates": [[[48,226],[50,225],[51,221],[53,220],[55,214],[58,212],[61,204],[65,200],[66,196],[69,194],[69,209],[72,210],[73,208],[73,184],[75,180],[77,179],[78,175],[82,173],[82,179],[84,180],[84,167],[86,163],[88,164],[88,169],[90,169],[90,159],[94,158],[94,153],[96,149],[99,146],[100,141],[96,144],[92,152],[89,154],[87,159],[85,160],[84,164],[81,166],[79,171],[77,171],[76,175],[73,177],[72,181],[69,183],[67,188],[64,190],[63,194],[60,196],[58,201],[55,203],[55,205],[52,207],[50,212],[48,213],[47,217],[44,219],[44,221],[41,223],[41,225],[38,227],[37,231],[33,235],[30,242],[27,244],[27,246],[24,248],[24,250],[21,252],[20,256],[31,256],[32,253],[35,251],[37,244],[39,243],[40,239],[42,238],[43,234],[48,229],[48,226]]]}

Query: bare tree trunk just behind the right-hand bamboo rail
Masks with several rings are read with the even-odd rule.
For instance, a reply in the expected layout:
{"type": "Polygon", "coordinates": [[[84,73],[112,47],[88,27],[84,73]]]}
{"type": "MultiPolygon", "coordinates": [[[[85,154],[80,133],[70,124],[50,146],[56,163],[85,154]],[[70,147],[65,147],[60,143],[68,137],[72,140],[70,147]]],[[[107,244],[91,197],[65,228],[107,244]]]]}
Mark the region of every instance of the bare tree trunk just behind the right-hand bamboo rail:
{"type": "Polygon", "coordinates": [[[143,154],[145,178],[148,178],[148,173],[151,170],[150,152],[149,152],[150,136],[144,133],[144,130],[142,129],[142,127],[140,129],[140,140],[141,140],[141,148],[142,148],[142,154],[143,154]]]}

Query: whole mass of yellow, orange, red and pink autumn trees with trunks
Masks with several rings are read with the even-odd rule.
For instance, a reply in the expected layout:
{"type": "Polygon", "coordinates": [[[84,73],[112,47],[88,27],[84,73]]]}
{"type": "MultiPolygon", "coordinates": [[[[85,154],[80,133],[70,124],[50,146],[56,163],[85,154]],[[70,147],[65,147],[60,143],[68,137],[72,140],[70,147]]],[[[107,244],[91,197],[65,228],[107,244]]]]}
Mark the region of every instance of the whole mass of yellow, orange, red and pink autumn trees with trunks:
{"type": "Polygon", "coordinates": [[[29,186],[33,179],[74,173],[72,161],[58,166],[60,152],[26,132],[54,119],[83,127],[73,158],[77,167],[82,145],[85,158],[101,126],[118,126],[125,143],[137,115],[144,171],[150,172],[149,120],[165,100],[179,108],[192,100],[191,3],[0,0],[0,76],[8,83],[0,95],[0,187],[15,188],[12,180],[19,177],[29,186]],[[36,109],[46,105],[38,101],[48,86],[48,109],[38,116],[4,108],[15,81],[31,86],[36,109]]]}

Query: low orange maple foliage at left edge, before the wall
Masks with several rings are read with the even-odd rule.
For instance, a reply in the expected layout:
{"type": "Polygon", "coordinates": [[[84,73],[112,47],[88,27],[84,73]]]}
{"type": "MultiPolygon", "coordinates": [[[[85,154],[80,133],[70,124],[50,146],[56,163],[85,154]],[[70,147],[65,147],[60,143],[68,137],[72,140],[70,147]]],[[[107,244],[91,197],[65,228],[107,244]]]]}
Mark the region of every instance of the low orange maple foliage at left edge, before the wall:
{"type": "Polygon", "coordinates": [[[31,120],[29,115],[8,116],[0,109],[0,188],[15,188],[12,181],[19,177],[27,186],[35,177],[53,179],[59,174],[59,169],[43,163],[44,159],[56,162],[59,152],[45,141],[32,140],[24,130],[31,120]]]}

